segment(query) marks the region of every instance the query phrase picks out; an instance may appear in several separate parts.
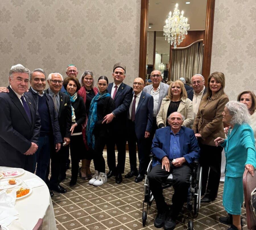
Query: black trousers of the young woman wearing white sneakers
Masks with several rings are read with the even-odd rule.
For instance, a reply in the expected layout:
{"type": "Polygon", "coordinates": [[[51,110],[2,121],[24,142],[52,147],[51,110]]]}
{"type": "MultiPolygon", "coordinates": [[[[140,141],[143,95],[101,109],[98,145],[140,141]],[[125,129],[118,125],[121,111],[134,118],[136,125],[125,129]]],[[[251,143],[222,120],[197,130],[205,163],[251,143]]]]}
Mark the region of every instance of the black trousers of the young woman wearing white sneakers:
{"type": "Polygon", "coordinates": [[[108,130],[107,129],[95,129],[95,149],[93,153],[94,168],[98,172],[105,173],[105,159],[103,157],[103,150],[107,143],[108,130]]]}

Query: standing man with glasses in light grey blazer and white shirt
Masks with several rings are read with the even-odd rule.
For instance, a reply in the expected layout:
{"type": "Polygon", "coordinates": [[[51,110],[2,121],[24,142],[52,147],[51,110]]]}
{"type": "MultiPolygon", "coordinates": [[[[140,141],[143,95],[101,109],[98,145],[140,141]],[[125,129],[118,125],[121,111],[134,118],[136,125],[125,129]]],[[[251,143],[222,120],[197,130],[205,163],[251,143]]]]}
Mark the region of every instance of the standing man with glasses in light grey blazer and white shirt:
{"type": "Polygon", "coordinates": [[[159,70],[153,70],[150,74],[150,80],[152,85],[144,87],[143,91],[150,94],[153,97],[153,124],[152,131],[150,133],[150,140],[153,140],[156,129],[156,115],[158,114],[163,98],[167,95],[169,86],[162,81],[161,72],[159,70]]]}

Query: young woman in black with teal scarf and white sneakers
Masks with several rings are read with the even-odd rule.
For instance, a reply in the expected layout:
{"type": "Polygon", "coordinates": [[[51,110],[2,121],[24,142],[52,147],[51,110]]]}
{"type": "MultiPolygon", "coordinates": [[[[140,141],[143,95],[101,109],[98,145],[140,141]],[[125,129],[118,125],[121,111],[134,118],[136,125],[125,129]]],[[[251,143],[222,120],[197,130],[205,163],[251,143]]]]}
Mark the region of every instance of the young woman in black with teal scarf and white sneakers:
{"type": "Polygon", "coordinates": [[[115,109],[115,103],[107,91],[108,78],[100,76],[98,79],[99,93],[92,99],[89,118],[86,127],[87,144],[94,150],[93,163],[95,174],[89,184],[100,186],[107,181],[103,149],[108,137],[109,125],[102,124],[104,117],[115,109]]]}

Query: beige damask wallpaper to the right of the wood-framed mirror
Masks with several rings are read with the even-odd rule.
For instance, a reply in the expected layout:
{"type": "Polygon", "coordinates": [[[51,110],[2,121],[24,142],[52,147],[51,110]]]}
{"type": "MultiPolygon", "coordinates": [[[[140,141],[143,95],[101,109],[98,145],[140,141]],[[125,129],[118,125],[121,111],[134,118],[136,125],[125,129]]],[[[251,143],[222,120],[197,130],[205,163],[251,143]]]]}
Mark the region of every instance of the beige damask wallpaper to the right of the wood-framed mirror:
{"type": "Polygon", "coordinates": [[[255,0],[215,1],[210,72],[225,74],[230,100],[244,90],[256,93],[255,34],[255,0]]]}

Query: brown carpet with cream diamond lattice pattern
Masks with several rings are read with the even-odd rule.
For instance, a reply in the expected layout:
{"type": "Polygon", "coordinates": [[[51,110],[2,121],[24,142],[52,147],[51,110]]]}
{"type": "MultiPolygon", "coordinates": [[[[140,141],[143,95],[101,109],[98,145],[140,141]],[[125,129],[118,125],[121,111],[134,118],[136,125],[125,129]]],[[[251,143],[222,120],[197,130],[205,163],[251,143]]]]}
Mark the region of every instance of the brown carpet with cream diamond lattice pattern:
{"type": "MultiPolygon", "coordinates": [[[[104,153],[106,160],[106,153],[104,153]]],[[[91,163],[91,171],[93,163],[91,163]]],[[[106,166],[108,172],[108,167],[106,166]]],[[[125,174],[130,171],[129,155],[126,154],[125,174]]],[[[156,217],[156,205],[153,201],[148,210],[146,226],[142,225],[142,205],[144,199],[144,180],[134,182],[134,177],[115,183],[115,177],[108,179],[102,186],[94,187],[87,180],[79,178],[77,185],[69,187],[71,171],[67,171],[67,179],[61,186],[67,189],[67,193],[52,197],[57,229],[156,229],[154,218],[156,217]]],[[[226,216],[222,206],[223,183],[220,182],[218,197],[210,204],[201,204],[199,216],[194,220],[194,229],[221,229],[227,225],[218,222],[220,216],[226,216]]],[[[164,190],[166,202],[171,204],[173,189],[164,190]]],[[[184,209],[184,212],[186,208],[184,209]]],[[[245,208],[242,209],[243,226],[247,230],[245,208]]],[[[175,229],[187,229],[186,215],[181,214],[175,229]],[[183,216],[184,215],[184,216],[183,216]]]]}

